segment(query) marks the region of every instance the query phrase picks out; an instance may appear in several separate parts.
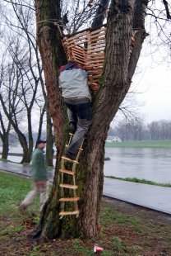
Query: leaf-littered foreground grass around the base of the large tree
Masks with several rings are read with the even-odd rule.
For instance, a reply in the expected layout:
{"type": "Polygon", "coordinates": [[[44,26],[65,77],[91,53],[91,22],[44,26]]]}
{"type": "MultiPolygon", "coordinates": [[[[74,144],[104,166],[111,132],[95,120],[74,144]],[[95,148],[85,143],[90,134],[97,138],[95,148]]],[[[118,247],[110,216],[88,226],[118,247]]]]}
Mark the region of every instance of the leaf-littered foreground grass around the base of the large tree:
{"type": "MultiPolygon", "coordinates": [[[[169,255],[171,229],[164,224],[164,217],[156,220],[150,211],[130,210],[130,205],[109,205],[103,202],[100,212],[100,232],[95,239],[53,239],[38,244],[26,235],[39,222],[39,201],[35,201],[25,215],[18,206],[30,191],[30,180],[8,173],[0,173],[0,244],[2,255],[28,256],[90,256],[99,244],[104,248],[101,255],[169,255]],[[118,207],[118,208],[117,208],[118,207]],[[124,211],[123,211],[124,210],[124,211]]],[[[124,203],[125,204],[125,203],[124,203]]],[[[135,206],[132,206],[135,207],[135,206]]],[[[134,209],[134,208],[133,208],[134,209]]],[[[170,221],[170,220],[168,220],[170,221]]]]}

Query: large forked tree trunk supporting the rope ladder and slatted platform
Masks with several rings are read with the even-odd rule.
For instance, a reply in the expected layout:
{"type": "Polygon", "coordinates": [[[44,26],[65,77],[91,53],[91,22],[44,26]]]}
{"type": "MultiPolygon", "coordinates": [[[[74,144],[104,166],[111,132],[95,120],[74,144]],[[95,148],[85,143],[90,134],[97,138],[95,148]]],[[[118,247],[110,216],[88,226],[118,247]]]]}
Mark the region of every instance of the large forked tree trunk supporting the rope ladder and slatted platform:
{"type": "MultiPolygon", "coordinates": [[[[60,1],[35,1],[38,24],[37,38],[44,64],[44,73],[49,97],[51,116],[58,147],[57,167],[53,180],[53,190],[44,206],[39,225],[32,235],[41,238],[74,237],[84,235],[95,237],[99,234],[99,211],[104,182],[104,144],[109,124],[118,111],[118,107],[127,94],[132,75],[140,55],[145,34],[137,33],[136,42],[130,56],[134,1],[112,1],[106,33],[104,73],[100,79],[100,88],[92,108],[92,124],[83,145],[80,164],[76,170],[76,183],[80,215],[65,216],[59,220],[59,160],[64,140],[64,114],[61,93],[58,89],[56,65],[64,60],[64,52],[58,27],[49,23],[60,19],[60,1]],[[122,3],[124,5],[122,6],[122,3]],[[54,11],[57,13],[54,15],[54,11]]],[[[144,9],[144,11],[146,11],[144,9]]]]}

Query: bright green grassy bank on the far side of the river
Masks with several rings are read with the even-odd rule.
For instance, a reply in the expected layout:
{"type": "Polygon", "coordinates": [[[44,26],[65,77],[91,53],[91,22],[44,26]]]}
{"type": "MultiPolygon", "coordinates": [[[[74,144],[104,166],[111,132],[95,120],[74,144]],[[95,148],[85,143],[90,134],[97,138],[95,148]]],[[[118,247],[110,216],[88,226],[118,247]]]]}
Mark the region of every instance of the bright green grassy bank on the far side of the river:
{"type": "Polygon", "coordinates": [[[136,140],[122,142],[106,142],[112,148],[167,148],[171,149],[171,140],[136,140]]]}

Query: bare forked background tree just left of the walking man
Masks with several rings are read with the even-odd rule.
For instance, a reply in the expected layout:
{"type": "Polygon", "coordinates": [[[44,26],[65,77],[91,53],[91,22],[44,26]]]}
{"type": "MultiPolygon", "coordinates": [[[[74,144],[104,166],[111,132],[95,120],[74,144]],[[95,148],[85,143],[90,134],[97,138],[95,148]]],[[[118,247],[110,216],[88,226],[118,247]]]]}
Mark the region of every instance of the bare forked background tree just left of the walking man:
{"type": "MultiPolygon", "coordinates": [[[[8,51],[13,59],[16,69],[18,69],[21,74],[20,87],[17,88],[16,95],[20,98],[23,106],[23,111],[26,113],[27,130],[23,130],[23,126],[20,128],[18,124],[18,114],[16,115],[16,108],[13,108],[13,116],[11,117],[11,123],[16,134],[19,137],[21,147],[23,149],[24,155],[21,162],[30,162],[30,155],[33,151],[33,135],[32,135],[32,112],[34,108],[39,107],[39,118],[38,118],[38,139],[41,136],[44,112],[46,111],[46,92],[44,90],[44,78],[43,69],[41,61],[39,59],[39,50],[35,43],[35,31],[32,29],[32,24],[34,23],[34,10],[28,2],[27,8],[23,5],[21,1],[8,1],[11,3],[13,13],[15,17],[13,20],[6,16],[8,31],[11,31],[11,35],[14,37],[10,39],[10,47],[8,51]],[[18,5],[19,4],[19,5],[18,5]],[[20,40],[15,43],[18,36],[20,40]],[[17,46],[16,46],[17,45],[17,46]],[[16,51],[16,48],[20,50],[16,51]],[[22,55],[19,52],[23,51],[22,55]],[[15,116],[15,118],[14,118],[15,116]]],[[[21,52],[20,52],[21,54],[21,52]]],[[[15,81],[14,81],[15,82],[15,81]]],[[[8,117],[10,117],[8,115],[8,117]]]]}

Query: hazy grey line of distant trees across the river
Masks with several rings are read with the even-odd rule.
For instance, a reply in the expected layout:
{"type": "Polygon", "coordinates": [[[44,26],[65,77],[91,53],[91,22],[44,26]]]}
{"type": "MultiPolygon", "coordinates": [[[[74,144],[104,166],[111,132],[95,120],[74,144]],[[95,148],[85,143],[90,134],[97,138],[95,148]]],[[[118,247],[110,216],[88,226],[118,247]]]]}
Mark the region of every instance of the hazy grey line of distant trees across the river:
{"type": "Polygon", "coordinates": [[[109,135],[117,135],[123,141],[127,140],[171,140],[171,121],[151,121],[145,124],[141,120],[119,121],[110,128],[109,135]]]}

